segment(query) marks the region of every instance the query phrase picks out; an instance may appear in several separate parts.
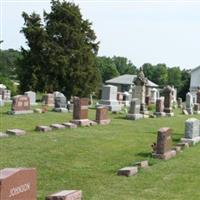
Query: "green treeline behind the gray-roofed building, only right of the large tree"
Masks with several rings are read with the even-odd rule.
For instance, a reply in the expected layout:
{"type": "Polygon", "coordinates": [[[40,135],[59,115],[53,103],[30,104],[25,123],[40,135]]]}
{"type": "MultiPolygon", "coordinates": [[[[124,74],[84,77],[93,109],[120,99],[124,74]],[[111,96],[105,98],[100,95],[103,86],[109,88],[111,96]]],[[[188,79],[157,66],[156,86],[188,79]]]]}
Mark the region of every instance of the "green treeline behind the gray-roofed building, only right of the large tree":
{"type": "MultiPolygon", "coordinates": [[[[101,73],[102,82],[123,74],[137,74],[139,67],[124,57],[98,57],[97,66],[101,73]]],[[[166,64],[142,65],[145,76],[160,87],[173,85],[178,89],[178,96],[185,99],[185,94],[190,87],[191,70],[180,67],[168,67],[166,64]]]]}

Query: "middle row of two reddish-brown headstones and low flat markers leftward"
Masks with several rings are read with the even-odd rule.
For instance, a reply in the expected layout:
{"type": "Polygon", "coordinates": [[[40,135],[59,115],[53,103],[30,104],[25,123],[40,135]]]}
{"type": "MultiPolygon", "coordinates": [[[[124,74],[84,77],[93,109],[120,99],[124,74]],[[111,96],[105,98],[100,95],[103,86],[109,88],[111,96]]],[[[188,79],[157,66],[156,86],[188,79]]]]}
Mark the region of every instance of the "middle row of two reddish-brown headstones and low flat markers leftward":
{"type": "MultiPolygon", "coordinates": [[[[88,99],[74,98],[73,119],[70,122],[62,124],[51,124],[50,126],[36,126],[37,131],[48,132],[52,129],[77,128],[77,126],[91,126],[96,124],[106,125],[110,123],[108,118],[108,109],[105,106],[100,106],[96,109],[96,119],[88,119],[88,99]]],[[[0,137],[7,137],[8,135],[24,135],[26,132],[21,129],[9,129],[5,133],[0,133],[0,137]]]]}

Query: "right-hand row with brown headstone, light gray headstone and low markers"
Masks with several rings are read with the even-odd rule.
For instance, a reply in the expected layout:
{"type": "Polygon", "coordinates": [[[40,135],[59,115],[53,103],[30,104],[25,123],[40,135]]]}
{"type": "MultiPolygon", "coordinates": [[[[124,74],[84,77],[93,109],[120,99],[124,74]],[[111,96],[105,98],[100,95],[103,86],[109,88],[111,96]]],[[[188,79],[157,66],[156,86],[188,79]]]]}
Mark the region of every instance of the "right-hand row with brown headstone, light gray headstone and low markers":
{"type": "MultiPolygon", "coordinates": [[[[157,143],[152,145],[152,157],[168,160],[175,157],[178,152],[196,145],[200,142],[200,121],[195,118],[190,118],[185,121],[185,134],[181,138],[181,141],[172,146],[172,129],[169,127],[163,127],[158,130],[157,143]]],[[[141,161],[133,166],[124,167],[118,170],[118,175],[133,176],[138,173],[140,169],[148,168],[148,161],[141,161]]]]}

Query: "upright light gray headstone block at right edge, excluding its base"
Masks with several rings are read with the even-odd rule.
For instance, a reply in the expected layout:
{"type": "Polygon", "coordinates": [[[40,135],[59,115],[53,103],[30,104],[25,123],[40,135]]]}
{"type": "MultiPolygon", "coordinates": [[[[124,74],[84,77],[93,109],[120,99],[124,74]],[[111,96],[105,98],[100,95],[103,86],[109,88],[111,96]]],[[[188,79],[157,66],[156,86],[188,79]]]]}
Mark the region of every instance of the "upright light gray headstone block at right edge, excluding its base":
{"type": "Polygon", "coordinates": [[[194,138],[199,136],[199,120],[190,118],[185,121],[185,138],[194,138]]]}

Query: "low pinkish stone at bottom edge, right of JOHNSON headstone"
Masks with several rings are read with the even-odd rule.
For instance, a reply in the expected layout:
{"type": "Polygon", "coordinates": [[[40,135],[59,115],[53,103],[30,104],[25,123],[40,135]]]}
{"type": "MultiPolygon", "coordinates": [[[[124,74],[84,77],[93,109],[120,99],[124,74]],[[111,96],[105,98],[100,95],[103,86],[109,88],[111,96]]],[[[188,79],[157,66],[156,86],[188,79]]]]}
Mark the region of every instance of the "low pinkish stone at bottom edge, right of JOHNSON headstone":
{"type": "Polygon", "coordinates": [[[82,191],[63,190],[47,196],[45,200],[82,200],[82,191]]]}

